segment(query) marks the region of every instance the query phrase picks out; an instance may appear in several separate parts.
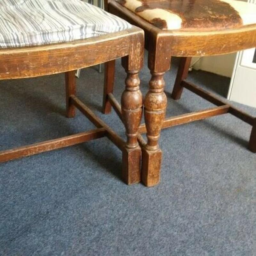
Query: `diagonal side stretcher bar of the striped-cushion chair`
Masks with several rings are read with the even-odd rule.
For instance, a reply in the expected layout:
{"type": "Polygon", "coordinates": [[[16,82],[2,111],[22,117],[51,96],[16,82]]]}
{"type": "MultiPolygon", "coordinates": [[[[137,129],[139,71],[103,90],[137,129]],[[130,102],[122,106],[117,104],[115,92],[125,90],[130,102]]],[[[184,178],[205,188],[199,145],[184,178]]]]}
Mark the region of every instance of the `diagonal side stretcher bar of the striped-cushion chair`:
{"type": "Polygon", "coordinates": [[[76,98],[76,96],[71,95],[70,98],[76,108],[80,110],[96,127],[104,128],[106,130],[106,136],[116,145],[116,147],[120,150],[124,149],[125,142],[120,136],[118,136],[107,124],[96,116],[81,100],[76,98]]]}

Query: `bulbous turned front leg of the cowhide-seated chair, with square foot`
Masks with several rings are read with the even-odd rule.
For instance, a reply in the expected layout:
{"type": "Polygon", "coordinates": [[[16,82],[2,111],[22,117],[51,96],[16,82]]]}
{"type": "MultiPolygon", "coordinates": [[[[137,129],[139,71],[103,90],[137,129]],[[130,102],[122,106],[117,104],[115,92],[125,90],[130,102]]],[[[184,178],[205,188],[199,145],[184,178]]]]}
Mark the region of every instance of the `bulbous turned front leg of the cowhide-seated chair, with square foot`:
{"type": "Polygon", "coordinates": [[[164,73],[151,72],[149,92],[144,100],[144,116],[148,142],[142,149],[142,182],[148,186],[159,183],[162,151],[158,145],[164,122],[167,99],[164,93],[164,73]]]}

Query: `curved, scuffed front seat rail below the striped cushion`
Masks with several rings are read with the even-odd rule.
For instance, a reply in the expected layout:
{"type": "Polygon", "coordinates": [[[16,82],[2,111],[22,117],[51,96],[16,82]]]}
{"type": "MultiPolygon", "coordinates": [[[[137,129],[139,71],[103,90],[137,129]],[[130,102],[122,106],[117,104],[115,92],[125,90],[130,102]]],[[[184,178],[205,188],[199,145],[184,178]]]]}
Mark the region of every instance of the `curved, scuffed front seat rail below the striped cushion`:
{"type": "MultiPolygon", "coordinates": [[[[68,43],[0,49],[0,79],[44,76],[94,66],[129,55],[131,45],[138,49],[133,44],[141,44],[141,37],[143,32],[132,27],[68,43]]],[[[140,63],[136,70],[139,66],[140,63]]]]}

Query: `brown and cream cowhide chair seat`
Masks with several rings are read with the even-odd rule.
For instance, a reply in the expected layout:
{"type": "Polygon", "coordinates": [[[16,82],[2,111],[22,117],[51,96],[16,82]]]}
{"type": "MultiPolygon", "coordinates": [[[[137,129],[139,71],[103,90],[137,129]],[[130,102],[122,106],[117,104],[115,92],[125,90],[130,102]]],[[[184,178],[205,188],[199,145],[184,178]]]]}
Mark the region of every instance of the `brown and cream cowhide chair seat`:
{"type": "Polygon", "coordinates": [[[117,0],[157,28],[220,30],[256,24],[256,5],[236,0],[117,0]]]}

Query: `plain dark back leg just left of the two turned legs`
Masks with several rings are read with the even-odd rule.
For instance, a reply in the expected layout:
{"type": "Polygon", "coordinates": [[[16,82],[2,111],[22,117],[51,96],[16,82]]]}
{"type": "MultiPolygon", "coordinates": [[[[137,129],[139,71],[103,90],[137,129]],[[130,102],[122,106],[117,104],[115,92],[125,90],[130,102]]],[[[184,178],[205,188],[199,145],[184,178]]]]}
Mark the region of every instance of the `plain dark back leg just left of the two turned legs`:
{"type": "Polygon", "coordinates": [[[109,114],[111,112],[111,104],[108,100],[108,93],[113,93],[115,78],[116,60],[110,60],[105,63],[104,91],[102,113],[109,114]]]}

